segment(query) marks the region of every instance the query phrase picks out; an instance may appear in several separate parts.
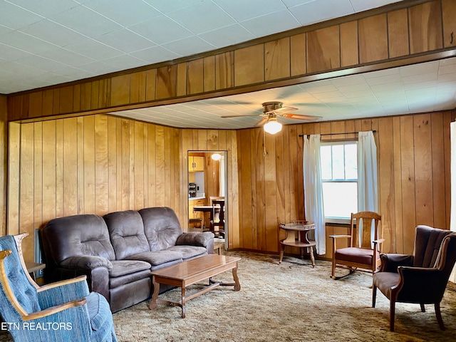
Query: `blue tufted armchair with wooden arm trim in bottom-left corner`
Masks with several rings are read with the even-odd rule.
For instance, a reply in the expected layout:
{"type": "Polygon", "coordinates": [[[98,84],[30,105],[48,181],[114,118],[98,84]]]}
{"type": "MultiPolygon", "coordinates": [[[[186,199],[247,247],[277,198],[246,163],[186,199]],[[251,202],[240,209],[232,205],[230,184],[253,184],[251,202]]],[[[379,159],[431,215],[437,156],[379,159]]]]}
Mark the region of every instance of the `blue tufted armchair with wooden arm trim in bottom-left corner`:
{"type": "Polygon", "coordinates": [[[21,241],[0,237],[1,328],[14,341],[117,341],[108,301],[89,293],[86,276],[38,286],[26,271],[21,241]]]}

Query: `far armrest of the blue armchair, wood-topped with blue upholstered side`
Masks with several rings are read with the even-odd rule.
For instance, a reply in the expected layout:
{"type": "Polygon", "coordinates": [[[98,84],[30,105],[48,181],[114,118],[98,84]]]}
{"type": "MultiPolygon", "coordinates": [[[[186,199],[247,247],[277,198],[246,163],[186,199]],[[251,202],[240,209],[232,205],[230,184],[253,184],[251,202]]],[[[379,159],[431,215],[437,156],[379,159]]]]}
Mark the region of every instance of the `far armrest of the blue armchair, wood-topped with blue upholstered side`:
{"type": "Polygon", "coordinates": [[[88,296],[86,279],[86,276],[78,276],[39,287],[36,291],[41,308],[58,306],[88,296]]]}

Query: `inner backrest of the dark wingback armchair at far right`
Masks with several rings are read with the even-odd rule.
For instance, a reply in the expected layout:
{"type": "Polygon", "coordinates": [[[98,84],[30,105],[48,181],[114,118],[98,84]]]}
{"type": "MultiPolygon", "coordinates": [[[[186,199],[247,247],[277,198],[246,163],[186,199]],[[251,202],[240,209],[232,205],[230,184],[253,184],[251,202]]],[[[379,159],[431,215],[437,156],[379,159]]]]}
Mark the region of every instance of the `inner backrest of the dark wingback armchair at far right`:
{"type": "Polygon", "coordinates": [[[437,229],[420,225],[415,229],[415,255],[413,266],[415,267],[435,267],[435,261],[439,254],[440,245],[450,230],[437,229]]]}

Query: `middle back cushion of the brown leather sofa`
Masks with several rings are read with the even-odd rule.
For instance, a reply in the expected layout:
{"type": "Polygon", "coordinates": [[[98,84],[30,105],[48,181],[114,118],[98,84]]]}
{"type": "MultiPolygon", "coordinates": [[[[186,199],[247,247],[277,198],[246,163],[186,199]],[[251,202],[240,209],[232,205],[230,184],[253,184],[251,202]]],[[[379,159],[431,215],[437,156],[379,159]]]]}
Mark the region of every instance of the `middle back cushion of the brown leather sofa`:
{"type": "Polygon", "coordinates": [[[115,259],[122,260],[130,255],[149,252],[141,216],[135,210],[111,212],[103,216],[108,226],[115,259]]]}

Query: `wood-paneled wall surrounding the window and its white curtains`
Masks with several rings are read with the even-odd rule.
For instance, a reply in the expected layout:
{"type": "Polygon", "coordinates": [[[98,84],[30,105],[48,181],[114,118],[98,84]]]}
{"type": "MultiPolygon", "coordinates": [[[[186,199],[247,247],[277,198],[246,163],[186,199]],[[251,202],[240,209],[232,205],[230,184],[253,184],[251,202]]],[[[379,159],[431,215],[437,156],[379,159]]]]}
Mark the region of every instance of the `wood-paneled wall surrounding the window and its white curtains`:
{"type": "MultiPolygon", "coordinates": [[[[455,116],[456,112],[445,111],[286,125],[281,133],[266,135],[265,155],[261,129],[239,130],[240,247],[279,252],[283,236],[278,224],[304,219],[300,134],[333,133],[321,138],[335,140],[355,138],[346,132],[376,130],[383,251],[413,252],[416,225],[450,228],[450,122],[455,116]]],[[[346,229],[326,227],[326,236],[331,234],[346,234],[346,229]]],[[[327,238],[323,257],[331,258],[331,250],[327,238]]]]}

